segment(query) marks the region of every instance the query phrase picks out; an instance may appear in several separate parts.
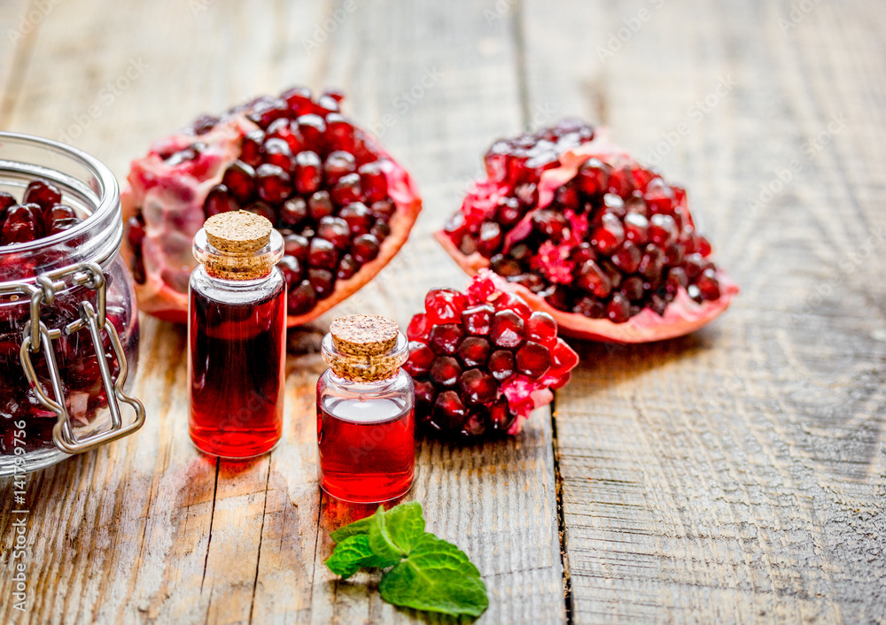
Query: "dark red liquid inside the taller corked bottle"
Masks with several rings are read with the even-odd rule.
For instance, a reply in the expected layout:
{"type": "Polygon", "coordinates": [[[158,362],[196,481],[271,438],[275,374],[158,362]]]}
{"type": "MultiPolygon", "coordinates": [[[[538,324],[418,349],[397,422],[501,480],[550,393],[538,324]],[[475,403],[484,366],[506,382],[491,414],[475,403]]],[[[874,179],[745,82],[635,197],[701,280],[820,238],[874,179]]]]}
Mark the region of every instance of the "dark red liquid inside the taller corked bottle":
{"type": "Polygon", "coordinates": [[[216,456],[270,450],[283,431],[286,297],[218,302],[190,292],[190,438],[216,456]]]}

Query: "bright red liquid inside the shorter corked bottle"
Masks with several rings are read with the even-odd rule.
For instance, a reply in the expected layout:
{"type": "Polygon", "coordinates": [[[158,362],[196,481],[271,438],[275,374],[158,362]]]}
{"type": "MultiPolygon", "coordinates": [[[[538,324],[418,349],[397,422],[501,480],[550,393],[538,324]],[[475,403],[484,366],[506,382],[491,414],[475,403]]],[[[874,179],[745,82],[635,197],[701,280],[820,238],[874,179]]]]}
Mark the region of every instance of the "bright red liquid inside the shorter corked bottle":
{"type": "Polygon", "coordinates": [[[361,503],[405,494],[415,471],[413,409],[390,399],[327,397],[324,403],[317,401],[323,490],[361,503]]]}

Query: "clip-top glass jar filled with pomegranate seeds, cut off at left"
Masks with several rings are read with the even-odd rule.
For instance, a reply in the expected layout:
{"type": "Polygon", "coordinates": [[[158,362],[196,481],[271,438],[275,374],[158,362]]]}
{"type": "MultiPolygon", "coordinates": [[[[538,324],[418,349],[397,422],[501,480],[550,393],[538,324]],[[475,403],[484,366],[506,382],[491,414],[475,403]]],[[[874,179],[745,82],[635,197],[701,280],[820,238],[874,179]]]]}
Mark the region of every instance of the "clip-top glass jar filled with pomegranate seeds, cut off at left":
{"type": "Polygon", "coordinates": [[[138,314],[122,236],[111,170],[61,143],[0,133],[0,475],[142,426],[128,395],[138,314]]]}

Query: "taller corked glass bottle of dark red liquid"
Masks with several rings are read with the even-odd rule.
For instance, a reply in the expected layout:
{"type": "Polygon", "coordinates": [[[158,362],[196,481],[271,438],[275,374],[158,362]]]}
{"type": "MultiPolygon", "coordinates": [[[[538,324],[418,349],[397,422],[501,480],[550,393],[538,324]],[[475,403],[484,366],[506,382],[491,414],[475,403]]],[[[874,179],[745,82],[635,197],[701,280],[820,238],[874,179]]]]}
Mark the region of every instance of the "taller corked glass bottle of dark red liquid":
{"type": "Polygon", "coordinates": [[[190,275],[190,439],[224,458],[256,456],[283,432],[283,237],[253,212],[222,212],[194,237],[190,275]]]}

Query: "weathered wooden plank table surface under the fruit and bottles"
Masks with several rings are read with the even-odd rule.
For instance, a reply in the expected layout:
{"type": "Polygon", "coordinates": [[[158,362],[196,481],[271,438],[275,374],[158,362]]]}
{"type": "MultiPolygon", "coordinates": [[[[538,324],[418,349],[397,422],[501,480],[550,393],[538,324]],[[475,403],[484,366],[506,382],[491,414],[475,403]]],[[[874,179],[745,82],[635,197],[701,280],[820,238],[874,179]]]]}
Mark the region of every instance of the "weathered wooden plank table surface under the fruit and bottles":
{"type": "MultiPolygon", "coordinates": [[[[886,619],[880,0],[2,0],[0,35],[0,128],[121,180],[201,112],[344,89],[424,212],[334,313],[400,323],[465,282],[430,235],[489,143],[567,114],[610,127],[686,185],[741,295],[694,336],[579,343],[521,436],[421,444],[409,498],[478,565],[483,623],[886,619]]],[[[183,328],[143,318],[144,428],[29,478],[24,613],[0,482],[4,621],[422,621],[323,566],[368,512],[317,486],[329,320],[291,337],[283,443],[233,463],[190,445],[183,328]]]]}

